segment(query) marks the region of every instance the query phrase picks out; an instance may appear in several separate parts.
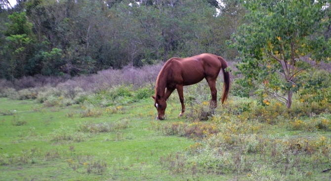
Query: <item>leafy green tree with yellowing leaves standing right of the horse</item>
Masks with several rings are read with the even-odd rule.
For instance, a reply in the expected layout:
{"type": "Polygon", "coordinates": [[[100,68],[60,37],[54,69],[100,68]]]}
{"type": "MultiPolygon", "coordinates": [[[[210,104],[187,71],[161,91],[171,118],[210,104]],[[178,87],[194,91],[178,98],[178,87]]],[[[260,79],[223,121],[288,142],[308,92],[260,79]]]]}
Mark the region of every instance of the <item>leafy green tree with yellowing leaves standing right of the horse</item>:
{"type": "Polygon", "coordinates": [[[303,85],[298,75],[330,61],[331,41],[321,34],[330,23],[325,16],[329,4],[327,0],[242,2],[249,23],[233,36],[242,59],[238,69],[245,80],[241,82],[262,88],[264,95],[290,109],[293,92],[303,85]]]}

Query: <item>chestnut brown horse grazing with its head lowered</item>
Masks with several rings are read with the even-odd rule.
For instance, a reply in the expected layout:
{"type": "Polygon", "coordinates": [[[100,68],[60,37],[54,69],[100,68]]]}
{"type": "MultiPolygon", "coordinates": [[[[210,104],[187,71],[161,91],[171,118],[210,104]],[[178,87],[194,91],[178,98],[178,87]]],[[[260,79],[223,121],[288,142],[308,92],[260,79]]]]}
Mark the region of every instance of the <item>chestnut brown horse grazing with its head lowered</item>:
{"type": "Polygon", "coordinates": [[[213,54],[201,54],[188,58],[171,58],[169,59],[156,80],[154,106],[158,110],[160,120],[165,119],[166,100],[170,94],[177,89],[179,100],[182,105],[182,116],[185,111],[183,86],[192,85],[206,78],[211,92],[210,107],[217,106],[216,79],[222,69],[224,84],[222,104],[226,101],[230,90],[230,73],[225,69],[228,67],[225,60],[213,54]]]}

